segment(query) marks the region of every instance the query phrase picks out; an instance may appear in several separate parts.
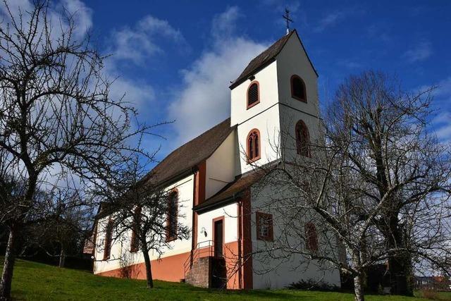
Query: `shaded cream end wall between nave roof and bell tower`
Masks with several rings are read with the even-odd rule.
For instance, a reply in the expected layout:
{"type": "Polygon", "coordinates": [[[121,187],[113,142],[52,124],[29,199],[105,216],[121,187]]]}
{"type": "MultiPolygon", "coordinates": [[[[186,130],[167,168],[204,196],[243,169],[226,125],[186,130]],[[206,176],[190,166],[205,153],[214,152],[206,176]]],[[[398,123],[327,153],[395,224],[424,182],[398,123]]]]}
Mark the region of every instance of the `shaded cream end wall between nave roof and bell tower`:
{"type": "Polygon", "coordinates": [[[209,198],[235,178],[235,131],[206,159],[205,197],[209,198]]]}

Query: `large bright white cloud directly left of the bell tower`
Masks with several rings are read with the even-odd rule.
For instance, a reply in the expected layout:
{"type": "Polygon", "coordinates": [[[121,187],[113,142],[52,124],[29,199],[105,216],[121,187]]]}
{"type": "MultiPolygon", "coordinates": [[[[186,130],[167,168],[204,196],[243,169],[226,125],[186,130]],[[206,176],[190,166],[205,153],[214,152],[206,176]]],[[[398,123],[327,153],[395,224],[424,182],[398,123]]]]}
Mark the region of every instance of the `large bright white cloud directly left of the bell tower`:
{"type": "Polygon", "coordinates": [[[235,80],[247,63],[266,49],[266,44],[235,34],[234,24],[240,16],[235,6],[216,16],[212,46],[182,71],[183,90],[178,91],[169,107],[178,144],[230,116],[230,80],[235,80]]]}

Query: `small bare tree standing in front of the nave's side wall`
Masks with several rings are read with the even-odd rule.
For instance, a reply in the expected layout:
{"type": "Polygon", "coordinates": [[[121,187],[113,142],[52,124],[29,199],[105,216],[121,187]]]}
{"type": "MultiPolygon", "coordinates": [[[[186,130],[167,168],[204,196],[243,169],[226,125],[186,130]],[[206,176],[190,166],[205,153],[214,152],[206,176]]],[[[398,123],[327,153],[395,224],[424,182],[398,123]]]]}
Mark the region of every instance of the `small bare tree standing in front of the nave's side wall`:
{"type": "Polygon", "coordinates": [[[149,252],[160,257],[171,249],[173,240],[189,238],[190,228],[183,221],[183,200],[178,192],[156,186],[152,174],[146,176],[147,164],[142,162],[139,156],[132,156],[121,176],[110,183],[108,191],[101,192],[106,192],[106,202],[100,216],[108,216],[109,221],[99,228],[98,235],[112,231],[111,240],[125,245],[122,252],[142,252],[147,288],[153,288],[149,252]]]}

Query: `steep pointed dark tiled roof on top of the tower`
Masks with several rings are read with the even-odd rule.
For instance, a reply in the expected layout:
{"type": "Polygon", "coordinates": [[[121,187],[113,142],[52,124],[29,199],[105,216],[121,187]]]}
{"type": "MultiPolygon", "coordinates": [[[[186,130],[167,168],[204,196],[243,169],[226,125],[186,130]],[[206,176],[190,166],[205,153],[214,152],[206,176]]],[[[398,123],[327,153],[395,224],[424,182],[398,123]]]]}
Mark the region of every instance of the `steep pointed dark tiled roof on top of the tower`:
{"type": "Polygon", "coordinates": [[[297,35],[297,31],[292,30],[288,35],[284,35],[283,37],[278,39],[274,44],[268,47],[265,51],[261,52],[261,54],[252,59],[252,61],[250,61],[249,64],[247,64],[245,70],[243,70],[240,76],[238,76],[238,78],[233,81],[232,85],[230,85],[229,88],[233,89],[237,87],[237,85],[240,85],[242,82],[245,82],[245,80],[247,80],[251,75],[257,73],[257,71],[268,66],[269,63],[272,63],[274,59],[276,59],[276,56],[280,53],[280,51],[282,51],[288,39],[290,39],[292,35],[296,35],[297,39],[299,39],[299,42],[301,42],[302,49],[304,49],[304,52],[307,55],[307,59],[309,59],[311,68],[313,68],[313,70],[316,73],[316,76],[318,76],[318,73],[316,72],[313,63],[311,63],[309,55],[307,54],[307,51],[305,50],[304,45],[302,44],[302,41],[299,38],[299,35],[297,35]]]}

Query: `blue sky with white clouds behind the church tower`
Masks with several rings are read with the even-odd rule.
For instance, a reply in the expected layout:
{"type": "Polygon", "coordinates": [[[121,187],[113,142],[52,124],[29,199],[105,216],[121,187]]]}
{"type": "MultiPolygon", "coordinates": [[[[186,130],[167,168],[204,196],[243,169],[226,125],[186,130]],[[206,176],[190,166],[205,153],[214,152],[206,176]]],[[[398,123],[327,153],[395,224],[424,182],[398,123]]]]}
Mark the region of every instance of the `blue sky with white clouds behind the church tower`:
{"type": "MultiPolygon", "coordinates": [[[[27,4],[27,0],[18,3],[27,4]]],[[[13,1],[13,3],[16,3],[13,1]]],[[[175,121],[149,139],[161,154],[229,116],[229,81],[248,61],[295,27],[319,72],[326,103],[348,75],[376,69],[407,90],[439,85],[433,119],[451,140],[451,1],[85,1],[61,0],[78,13],[140,120],[175,121]]]]}

